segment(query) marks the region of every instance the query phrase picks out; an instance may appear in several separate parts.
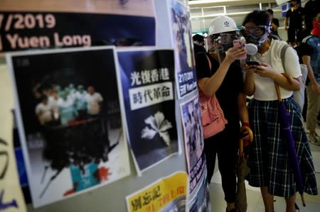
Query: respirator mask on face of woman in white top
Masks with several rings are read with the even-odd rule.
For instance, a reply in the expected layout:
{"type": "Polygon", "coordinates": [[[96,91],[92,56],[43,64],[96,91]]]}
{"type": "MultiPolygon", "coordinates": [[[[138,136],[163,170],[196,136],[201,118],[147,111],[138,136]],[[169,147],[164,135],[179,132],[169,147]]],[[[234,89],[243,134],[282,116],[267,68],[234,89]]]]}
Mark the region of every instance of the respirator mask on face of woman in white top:
{"type": "Polygon", "coordinates": [[[268,30],[270,30],[270,26],[242,26],[240,33],[245,38],[247,55],[257,54],[260,46],[265,43],[265,39],[267,39],[265,35],[268,30]]]}

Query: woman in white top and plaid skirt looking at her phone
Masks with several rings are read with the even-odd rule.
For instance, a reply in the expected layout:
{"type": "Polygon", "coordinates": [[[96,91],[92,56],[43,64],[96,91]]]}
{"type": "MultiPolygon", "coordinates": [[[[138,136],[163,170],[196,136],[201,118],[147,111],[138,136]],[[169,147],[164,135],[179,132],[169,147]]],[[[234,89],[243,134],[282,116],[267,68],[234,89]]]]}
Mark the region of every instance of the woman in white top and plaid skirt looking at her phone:
{"type": "Polygon", "coordinates": [[[302,73],[299,58],[293,48],[287,48],[283,67],[281,49],[287,43],[270,38],[270,19],[265,11],[248,13],[240,32],[247,43],[257,45],[258,52],[251,56],[251,60],[261,64],[245,65],[244,69],[244,91],[247,96],[253,96],[247,106],[253,133],[247,180],[251,186],[260,187],[266,212],[274,211],[274,196],[283,196],[286,211],[294,212],[297,189],[286,141],[280,133],[282,128],[277,118],[279,108],[274,82],[279,84],[282,101],[290,114],[289,122],[297,147],[297,158],[302,167],[304,191],[316,195],[318,191],[311,150],[301,111],[292,98],[293,91],[300,89],[302,73]],[[292,84],[284,77],[284,72],[292,77],[292,84]]]}

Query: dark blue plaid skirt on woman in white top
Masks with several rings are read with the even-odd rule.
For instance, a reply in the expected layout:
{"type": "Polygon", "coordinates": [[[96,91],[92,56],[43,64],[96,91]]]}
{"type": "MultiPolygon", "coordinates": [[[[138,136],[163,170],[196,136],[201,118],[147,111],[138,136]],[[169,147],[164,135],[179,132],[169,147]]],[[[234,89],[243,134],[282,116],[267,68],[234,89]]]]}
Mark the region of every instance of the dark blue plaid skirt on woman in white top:
{"type": "MultiPolygon", "coordinates": [[[[292,99],[283,99],[291,116],[291,130],[297,158],[302,171],[302,182],[307,194],[318,194],[311,150],[304,130],[301,111],[292,99]]],[[[297,192],[294,174],[278,118],[278,101],[257,101],[248,104],[250,125],[254,135],[250,147],[247,180],[251,186],[268,187],[270,194],[289,197],[297,192]]]]}

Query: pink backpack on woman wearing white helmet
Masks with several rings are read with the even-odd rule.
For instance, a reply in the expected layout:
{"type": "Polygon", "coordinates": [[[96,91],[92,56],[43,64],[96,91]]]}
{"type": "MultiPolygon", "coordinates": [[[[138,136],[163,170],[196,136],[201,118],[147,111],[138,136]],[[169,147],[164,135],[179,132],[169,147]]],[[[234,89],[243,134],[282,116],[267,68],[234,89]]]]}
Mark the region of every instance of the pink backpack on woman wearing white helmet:
{"type": "MultiPolygon", "coordinates": [[[[205,54],[205,53],[203,53],[205,54]]],[[[208,59],[208,65],[211,71],[211,62],[208,59]]],[[[203,138],[210,138],[211,136],[220,133],[225,129],[225,124],[228,123],[220,107],[219,101],[215,94],[213,96],[206,96],[198,87],[199,101],[201,106],[201,118],[203,127],[203,138]]]]}

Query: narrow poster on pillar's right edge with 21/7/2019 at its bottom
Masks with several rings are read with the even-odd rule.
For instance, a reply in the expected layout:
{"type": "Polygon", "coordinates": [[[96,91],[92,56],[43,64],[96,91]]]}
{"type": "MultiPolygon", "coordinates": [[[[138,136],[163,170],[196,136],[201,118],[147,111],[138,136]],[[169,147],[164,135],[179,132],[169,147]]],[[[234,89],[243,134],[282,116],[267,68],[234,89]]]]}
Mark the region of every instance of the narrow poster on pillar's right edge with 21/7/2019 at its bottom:
{"type": "Polygon", "coordinates": [[[197,88],[190,12],[181,1],[167,1],[171,17],[171,40],[175,48],[176,88],[180,99],[197,88]]]}

